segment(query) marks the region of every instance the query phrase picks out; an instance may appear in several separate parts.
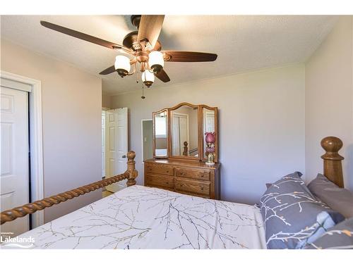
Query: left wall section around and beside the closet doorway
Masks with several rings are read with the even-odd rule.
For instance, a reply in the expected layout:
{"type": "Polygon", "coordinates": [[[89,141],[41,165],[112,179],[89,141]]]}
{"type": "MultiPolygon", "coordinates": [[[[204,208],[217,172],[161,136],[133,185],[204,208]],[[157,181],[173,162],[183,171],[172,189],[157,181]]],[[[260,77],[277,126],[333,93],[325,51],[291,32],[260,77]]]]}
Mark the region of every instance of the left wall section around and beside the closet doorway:
{"type": "MultiPolygon", "coordinates": [[[[100,180],[100,78],[4,39],[1,70],[42,82],[44,196],[100,180]]],[[[47,208],[44,219],[47,222],[101,197],[101,191],[95,191],[47,208]]]]}

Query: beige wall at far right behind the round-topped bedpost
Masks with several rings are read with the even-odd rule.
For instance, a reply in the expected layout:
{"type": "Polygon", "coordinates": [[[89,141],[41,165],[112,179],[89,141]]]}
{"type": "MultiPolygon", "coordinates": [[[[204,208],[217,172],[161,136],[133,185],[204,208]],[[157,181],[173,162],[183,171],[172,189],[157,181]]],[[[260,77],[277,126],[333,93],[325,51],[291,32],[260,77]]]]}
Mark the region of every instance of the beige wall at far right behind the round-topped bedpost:
{"type": "Polygon", "coordinates": [[[340,137],[345,186],[353,190],[352,16],[337,25],[306,62],[306,180],[323,172],[318,142],[340,137]]]}

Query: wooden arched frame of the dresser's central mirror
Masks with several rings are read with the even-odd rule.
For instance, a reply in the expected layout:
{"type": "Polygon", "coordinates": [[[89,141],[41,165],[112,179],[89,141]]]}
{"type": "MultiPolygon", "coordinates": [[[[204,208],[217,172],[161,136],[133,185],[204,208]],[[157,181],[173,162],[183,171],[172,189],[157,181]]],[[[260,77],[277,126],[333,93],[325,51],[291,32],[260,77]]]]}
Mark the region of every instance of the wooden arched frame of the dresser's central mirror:
{"type": "MultiPolygon", "coordinates": [[[[199,105],[195,105],[195,104],[192,104],[192,103],[179,103],[177,104],[177,106],[173,106],[171,108],[168,108],[168,120],[172,120],[172,111],[174,110],[177,110],[178,108],[180,108],[181,106],[189,106],[191,108],[196,108],[198,113],[197,113],[197,116],[198,116],[198,129],[197,129],[197,132],[198,132],[198,157],[191,157],[191,156],[173,156],[172,155],[172,140],[168,140],[168,149],[169,149],[169,153],[168,153],[168,156],[169,158],[175,158],[175,159],[178,159],[178,160],[196,160],[196,161],[200,161],[200,106],[199,105]]],[[[169,134],[168,134],[168,137],[169,139],[172,139],[172,122],[169,121],[168,123],[168,131],[169,131],[169,134]]]]}

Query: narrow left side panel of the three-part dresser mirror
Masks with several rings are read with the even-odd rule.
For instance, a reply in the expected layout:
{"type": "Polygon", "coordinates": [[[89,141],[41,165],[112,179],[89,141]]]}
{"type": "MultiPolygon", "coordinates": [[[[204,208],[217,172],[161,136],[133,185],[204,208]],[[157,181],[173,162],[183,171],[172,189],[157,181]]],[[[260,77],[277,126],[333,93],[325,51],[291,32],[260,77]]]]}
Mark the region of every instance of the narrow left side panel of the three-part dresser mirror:
{"type": "Polygon", "coordinates": [[[168,157],[168,111],[153,113],[153,149],[155,158],[168,157]]]}

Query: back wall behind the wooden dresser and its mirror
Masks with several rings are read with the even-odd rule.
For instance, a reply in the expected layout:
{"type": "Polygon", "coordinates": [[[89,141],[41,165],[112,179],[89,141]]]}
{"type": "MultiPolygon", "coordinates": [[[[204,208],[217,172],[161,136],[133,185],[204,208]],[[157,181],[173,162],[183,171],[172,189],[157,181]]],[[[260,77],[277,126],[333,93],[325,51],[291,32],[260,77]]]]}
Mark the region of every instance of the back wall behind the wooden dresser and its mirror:
{"type": "MultiPolygon", "coordinates": [[[[170,76],[173,78],[173,76],[170,76]]],[[[304,65],[260,70],[113,96],[129,109],[129,149],[141,159],[140,120],[186,101],[219,108],[222,199],[255,203],[265,183],[304,172],[304,65]]],[[[319,142],[317,142],[319,144],[319,142]]],[[[138,184],[143,165],[136,163],[138,184]]]]}

